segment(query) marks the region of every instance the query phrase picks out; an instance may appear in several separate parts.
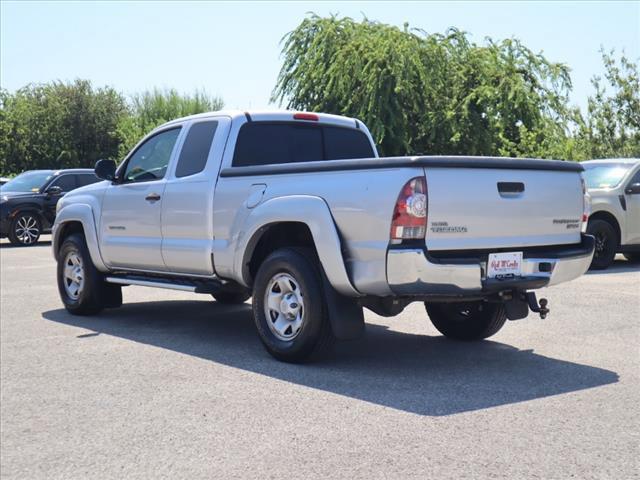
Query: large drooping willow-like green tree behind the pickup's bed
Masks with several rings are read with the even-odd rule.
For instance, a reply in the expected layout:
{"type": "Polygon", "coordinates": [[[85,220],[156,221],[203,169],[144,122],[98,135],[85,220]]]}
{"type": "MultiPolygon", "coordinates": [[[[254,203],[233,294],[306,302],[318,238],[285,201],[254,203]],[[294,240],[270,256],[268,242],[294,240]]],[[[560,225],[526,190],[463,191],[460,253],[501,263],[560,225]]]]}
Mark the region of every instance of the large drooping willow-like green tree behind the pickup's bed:
{"type": "Polygon", "coordinates": [[[485,45],[364,19],[310,15],[283,44],[272,100],[362,119],[384,155],[560,151],[569,69],[517,39],[485,45]]]}

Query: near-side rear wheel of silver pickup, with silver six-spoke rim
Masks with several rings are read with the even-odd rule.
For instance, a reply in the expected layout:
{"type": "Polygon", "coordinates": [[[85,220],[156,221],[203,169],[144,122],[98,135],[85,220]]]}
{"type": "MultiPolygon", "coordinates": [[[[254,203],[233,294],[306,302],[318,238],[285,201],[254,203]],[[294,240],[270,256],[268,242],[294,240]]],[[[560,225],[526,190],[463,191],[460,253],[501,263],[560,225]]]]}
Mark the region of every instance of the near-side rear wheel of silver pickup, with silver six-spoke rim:
{"type": "Polygon", "coordinates": [[[254,281],[253,316],[267,351],[301,363],[329,350],[329,324],[320,266],[311,250],[284,248],[262,263],[254,281]]]}

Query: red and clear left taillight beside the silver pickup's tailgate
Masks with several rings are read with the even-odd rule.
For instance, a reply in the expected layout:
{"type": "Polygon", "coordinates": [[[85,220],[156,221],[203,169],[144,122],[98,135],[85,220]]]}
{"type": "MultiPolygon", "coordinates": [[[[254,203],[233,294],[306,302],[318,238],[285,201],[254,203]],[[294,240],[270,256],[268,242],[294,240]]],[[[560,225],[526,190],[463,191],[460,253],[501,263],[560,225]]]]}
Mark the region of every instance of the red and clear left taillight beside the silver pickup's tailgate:
{"type": "Polygon", "coordinates": [[[427,231],[427,182],[425,177],[409,180],[398,195],[391,219],[391,242],[419,240],[427,231]]]}

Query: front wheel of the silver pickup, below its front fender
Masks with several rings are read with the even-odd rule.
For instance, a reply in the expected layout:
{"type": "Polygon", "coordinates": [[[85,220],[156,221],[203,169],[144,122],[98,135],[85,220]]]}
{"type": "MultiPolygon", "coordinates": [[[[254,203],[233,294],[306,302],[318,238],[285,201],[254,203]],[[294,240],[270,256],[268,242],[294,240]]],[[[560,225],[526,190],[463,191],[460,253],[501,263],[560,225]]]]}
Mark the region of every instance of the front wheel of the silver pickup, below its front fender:
{"type": "Polygon", "coordinates": [[[94,315],[122,304],[122,289],[104,281],[91,261],[83,235],[69,235],[58,253],[58,291],[73,315],[94,315]]]}

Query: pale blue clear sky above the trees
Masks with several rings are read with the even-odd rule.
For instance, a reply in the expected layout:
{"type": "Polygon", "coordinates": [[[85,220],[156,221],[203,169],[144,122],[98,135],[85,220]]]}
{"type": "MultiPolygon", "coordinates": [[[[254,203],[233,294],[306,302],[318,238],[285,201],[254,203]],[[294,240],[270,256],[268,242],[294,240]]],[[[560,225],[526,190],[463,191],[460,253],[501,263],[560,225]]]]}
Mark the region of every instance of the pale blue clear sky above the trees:
{"type": "Polygon", "coordinates": [[[0,85],[10,91],[83,78],[125,94],[204,89],[228,108],[275,108],[280,41],[308,12],[429,33],[454,26],[477,43],[517,37],[571,68],[571,100],[583,109],[591,77],[603,74],[601,46],[640,58],[640,1],[0,1],[0,85]]]}

